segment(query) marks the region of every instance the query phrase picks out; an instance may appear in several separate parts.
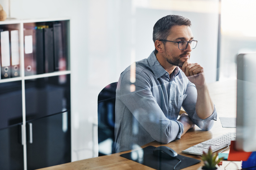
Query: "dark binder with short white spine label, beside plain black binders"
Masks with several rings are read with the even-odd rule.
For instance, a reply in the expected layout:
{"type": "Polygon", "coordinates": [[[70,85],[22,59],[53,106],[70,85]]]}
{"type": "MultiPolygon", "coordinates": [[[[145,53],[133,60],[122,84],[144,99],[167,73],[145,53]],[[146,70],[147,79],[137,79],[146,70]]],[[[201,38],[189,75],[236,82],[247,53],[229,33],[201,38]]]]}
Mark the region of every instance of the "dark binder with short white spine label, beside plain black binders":
{"type": "Polygon", "coordinates": [[[36,73],[35,64],[35,30],[24,30],[24,70],[25,76],[36,73]]]}

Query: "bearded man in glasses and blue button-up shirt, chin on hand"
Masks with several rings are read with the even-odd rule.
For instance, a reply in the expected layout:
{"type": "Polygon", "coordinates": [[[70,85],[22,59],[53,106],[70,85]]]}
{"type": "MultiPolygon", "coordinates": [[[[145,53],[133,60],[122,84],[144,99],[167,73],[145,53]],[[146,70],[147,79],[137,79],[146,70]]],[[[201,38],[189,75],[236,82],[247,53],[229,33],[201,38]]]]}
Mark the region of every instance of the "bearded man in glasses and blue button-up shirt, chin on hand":
{"type": "Polygon", "coordinates": [[[168,15],[153,27],[155,51],[121,73],[116,90],[116,152],[151,141],[178,140],[196,124],[210,130],[217,119],[204,69],[191,63],[196,48],[191,21],[168,15]],[[181,106],[187,114],[178,119],[181,106]],[[178,120],[177,120],[178,119],[178,120]]]}

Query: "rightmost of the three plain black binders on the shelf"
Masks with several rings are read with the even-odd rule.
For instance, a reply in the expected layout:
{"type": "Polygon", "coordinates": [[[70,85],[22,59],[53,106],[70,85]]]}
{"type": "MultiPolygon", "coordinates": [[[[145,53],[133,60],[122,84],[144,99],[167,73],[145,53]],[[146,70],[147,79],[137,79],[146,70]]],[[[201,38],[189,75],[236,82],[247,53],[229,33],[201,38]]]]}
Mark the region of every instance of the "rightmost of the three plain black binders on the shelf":
{"type": "Polygon", "coordinates": [[[53,37],[54,37],[54,70],[59,70],[59,61],[63,58],[63,45],[62,45],[62,25],[61,23],[53,24],[53,37]]]}

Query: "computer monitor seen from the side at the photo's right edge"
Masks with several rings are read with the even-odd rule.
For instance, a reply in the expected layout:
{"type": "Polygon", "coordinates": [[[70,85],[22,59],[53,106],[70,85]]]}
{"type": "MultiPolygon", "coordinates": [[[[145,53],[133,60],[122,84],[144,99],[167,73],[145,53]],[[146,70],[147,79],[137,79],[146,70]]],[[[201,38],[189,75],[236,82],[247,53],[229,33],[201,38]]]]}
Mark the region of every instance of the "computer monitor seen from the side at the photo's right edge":
{"type": "Polygon", "coordinates": [[[237,56],[237,139],[235,149],[256,151],[256,52],[237,56]]]}

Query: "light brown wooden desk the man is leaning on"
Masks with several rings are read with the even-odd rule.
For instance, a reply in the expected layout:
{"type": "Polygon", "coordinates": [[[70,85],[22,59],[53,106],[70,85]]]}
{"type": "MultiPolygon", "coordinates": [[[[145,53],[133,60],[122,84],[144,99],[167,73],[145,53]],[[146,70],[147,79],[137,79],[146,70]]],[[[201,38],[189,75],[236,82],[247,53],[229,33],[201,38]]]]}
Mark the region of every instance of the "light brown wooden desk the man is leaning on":
{"type": "MultiPolygon", "coordinates": [[[[213,128],[210,131],[202,131],[198,127],[194,130],[188,131],[180,140],[172,141],[169,144],[161,144],[157,141],[148,143],[143,147],[153,145],[153,146],[168,146],[174,149],[179,155],[192,157],[200,159],[200,156],[189,155],[181,153],[182,150],[187,149],[190,146],[201,143],[205,140],[218,137],[227,132],[235,132],[235,128],[223,128],[219,117],[236,117],[236,80],[229,80],[223,82],[215,82],[209,84],[209,92],[211,98],[217,109],[218,119],[214,123],[213,128]]],[[[101,156],[96,158],[78,160],[75,162],[70,162],[62,165],[51,166],[48,168],[43,168],[41,170],[82,170],[82,169],[117,169],[117,170],[131,170],[131,169],[152,169],[148,166],[139,164],[132,160],[121,157],[123,153],[130,151],[115,153],[112,155],[101,156]]],[[[202,162],[187,167],[184,170],[195,170],[199,166],[203,165],[202,162]]],[[[153,170],[153,169],[152,169],[153,170]]]]}

